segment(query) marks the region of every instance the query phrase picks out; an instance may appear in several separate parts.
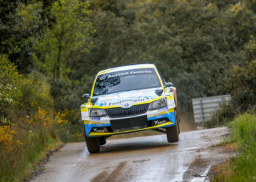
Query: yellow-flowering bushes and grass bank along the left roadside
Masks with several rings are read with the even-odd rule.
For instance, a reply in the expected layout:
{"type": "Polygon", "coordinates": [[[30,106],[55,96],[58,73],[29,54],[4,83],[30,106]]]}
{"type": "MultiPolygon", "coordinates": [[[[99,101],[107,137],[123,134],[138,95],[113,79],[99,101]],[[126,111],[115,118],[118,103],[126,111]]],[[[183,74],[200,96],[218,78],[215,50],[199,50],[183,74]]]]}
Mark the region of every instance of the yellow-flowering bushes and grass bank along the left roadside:
{"type": "Polygon", "coordinates": [[[0,60],[0,181],[22,181],[43,152],[58,145],[68,112],[54,110],[42,77],[19,75],[7,58],[0,60]]]}

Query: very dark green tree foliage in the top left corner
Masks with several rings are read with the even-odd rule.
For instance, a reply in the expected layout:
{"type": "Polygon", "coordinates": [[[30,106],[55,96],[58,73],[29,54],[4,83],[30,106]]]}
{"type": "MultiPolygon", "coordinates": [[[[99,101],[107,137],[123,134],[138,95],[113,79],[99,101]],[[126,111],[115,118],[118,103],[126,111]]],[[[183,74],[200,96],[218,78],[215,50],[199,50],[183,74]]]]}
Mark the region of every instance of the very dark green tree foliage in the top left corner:
{"type": "Polygon", "coordinates": [[[45,4],[46,1],[40,4],[36,0],[25,2],[0,1],[0,54],[7,55],[21,73],[31,71],[34,39],[42,36],[50,23],[50,15],[46,10],[50,4],[45,4]]]}

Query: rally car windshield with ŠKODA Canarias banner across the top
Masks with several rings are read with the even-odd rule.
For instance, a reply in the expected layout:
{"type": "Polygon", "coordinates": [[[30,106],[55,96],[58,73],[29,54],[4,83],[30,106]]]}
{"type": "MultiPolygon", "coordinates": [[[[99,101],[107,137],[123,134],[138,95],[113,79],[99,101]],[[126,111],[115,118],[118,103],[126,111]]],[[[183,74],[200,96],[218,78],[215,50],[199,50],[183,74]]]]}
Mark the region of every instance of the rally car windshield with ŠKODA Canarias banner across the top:
{"type": "Polygon", "coordinates": [[[161,87],[154,68],[117,71],[101,74],[94,86],[94,96],[130,90],[161,87]]]}

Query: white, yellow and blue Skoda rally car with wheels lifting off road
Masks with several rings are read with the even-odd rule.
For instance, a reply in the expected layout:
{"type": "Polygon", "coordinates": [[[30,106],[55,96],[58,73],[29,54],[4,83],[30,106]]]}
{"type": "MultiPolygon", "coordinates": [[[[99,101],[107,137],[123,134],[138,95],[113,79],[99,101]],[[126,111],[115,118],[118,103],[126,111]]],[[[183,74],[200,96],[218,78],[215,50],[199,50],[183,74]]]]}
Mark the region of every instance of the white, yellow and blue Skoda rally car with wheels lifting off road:
{"type": "Polygon", "coordinates": [[[99,152],[110,135],[141,130],[165,132],[168,142],[178,141],[176,88],[154,64],[99,71],[83,98],[88,98],[80,109],[90,153],[99,152]]]}

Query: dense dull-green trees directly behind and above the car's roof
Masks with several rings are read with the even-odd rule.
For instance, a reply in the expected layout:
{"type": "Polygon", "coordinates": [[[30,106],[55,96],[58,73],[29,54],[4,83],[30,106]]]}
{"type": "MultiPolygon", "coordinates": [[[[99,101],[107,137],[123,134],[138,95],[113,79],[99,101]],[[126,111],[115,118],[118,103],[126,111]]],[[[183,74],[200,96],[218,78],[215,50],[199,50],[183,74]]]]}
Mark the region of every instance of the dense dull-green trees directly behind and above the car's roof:
{"type": "Polygon", "coordinates": [[[106,67],[155,63],[177,87],[181,108],[187,111],[191,98],[226,93],[225,73],[230,64],[242,63],[245,44],[255,35],[255,15],[238,1],[92,4],[94,47],[70,78],[94,76],[106,67]]]}

